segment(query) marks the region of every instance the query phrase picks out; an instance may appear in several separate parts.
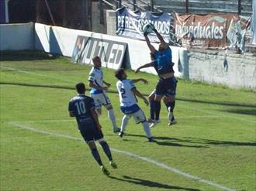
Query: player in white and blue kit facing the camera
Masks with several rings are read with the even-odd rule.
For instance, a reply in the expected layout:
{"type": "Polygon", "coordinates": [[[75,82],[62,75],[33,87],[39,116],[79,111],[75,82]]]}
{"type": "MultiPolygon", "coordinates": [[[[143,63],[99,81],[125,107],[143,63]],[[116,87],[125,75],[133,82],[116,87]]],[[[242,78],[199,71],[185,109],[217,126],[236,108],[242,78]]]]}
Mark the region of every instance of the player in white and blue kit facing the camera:
{"type": "Polygon", "coordinates": [[[102,67],[102,61],[99,56],[94,56],[92,58],[94,67],[89,73],[88,85],[92,87],[90,95],[95,101],[95,107],[97,114],[102,114],[102,105],[106,107],[109,115],[109,119],[112,122],[112,131],[119,132],[119,128],[116,125],[116,117],[112,110],[112,104],[110,103],[109,97],[106,95],[106,90],[110,87],[111,84],[103,80],[103,73],[100,68],[102,67]]]}

